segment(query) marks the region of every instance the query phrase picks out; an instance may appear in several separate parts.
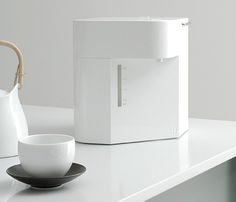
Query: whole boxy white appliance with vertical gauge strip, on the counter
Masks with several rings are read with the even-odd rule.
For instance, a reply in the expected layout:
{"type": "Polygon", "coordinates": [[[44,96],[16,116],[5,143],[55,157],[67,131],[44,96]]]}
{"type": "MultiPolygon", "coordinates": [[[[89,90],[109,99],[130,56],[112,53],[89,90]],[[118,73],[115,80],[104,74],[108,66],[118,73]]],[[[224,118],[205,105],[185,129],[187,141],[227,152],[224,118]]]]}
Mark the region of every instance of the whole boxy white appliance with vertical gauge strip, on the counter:
{"type": "Polygon", "coordinates": [[[116,144],[188,130],[188,19],[74,21],[75,138],[116,144]]]}

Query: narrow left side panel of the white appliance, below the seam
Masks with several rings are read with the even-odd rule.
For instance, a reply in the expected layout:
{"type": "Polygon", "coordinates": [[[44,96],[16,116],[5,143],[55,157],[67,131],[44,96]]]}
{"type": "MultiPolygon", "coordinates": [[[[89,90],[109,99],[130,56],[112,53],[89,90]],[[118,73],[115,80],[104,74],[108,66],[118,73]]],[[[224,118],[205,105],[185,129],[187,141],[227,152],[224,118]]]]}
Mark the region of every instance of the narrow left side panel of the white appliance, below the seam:
{"type": "Polygon", "coordinates": [[[110,60],[80,58],[74,73],[76,140],[110,144],[110,60]]]}

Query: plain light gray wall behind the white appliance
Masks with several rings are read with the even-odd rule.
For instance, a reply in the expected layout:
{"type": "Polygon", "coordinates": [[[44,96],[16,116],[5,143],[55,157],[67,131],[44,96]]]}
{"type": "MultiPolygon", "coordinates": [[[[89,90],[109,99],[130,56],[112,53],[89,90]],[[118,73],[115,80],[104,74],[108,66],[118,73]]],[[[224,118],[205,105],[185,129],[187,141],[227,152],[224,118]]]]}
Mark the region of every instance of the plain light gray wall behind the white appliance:
{"type": "MultiPolygon", "coordinates": [[[[190,115],[236,120],[236,3],[233,0],[0,0],[0,38],[25,57],[24,104],[73,106],[72,20],[101,16],[184,16],[190,29],[190,115]]],[[[0,49],[0,88],[16,60],[0,49]]]]}

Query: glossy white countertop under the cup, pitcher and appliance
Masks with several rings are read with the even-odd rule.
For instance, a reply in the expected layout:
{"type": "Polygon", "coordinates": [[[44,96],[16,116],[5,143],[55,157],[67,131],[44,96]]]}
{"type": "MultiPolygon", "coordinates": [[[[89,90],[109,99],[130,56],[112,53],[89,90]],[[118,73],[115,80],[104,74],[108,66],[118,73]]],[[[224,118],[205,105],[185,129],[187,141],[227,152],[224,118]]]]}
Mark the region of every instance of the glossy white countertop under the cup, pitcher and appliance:
{"type": "MultiPolygon", "coordinates": [[[[30,134],[73,134],[73,110],[25,106],[30,134]]],[[[8,176],[17,157],[0,159],[0,201],[145,201],[236,156],[236,122],[190,119],[179,139],[113,146],[76,144],[85,174],[53,191],[35,191],[8,176]]]]}

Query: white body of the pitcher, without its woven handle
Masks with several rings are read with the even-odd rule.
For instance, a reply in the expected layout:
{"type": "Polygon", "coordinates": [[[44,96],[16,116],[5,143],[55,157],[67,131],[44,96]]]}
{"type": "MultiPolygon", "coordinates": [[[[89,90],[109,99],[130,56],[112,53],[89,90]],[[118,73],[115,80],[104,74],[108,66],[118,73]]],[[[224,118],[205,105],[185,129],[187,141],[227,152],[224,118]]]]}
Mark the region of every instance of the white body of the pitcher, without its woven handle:
{"type": "Polygon", "coordinates": [[[0,158],[17,155],[20,138],[28,135],[28,125],[18,97],[18,84],[0,97],[0,158]]]}

